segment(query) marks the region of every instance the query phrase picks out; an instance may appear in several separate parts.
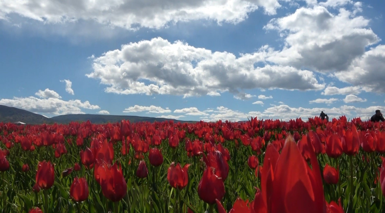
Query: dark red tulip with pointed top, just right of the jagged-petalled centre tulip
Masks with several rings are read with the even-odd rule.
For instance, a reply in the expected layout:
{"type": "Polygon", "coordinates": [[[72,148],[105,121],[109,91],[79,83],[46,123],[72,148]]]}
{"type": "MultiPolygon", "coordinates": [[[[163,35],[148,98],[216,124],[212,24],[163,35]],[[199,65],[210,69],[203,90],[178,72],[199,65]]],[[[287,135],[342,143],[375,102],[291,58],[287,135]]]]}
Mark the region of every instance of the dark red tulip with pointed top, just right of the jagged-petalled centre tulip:
{"type": "Polygon", "coordinates": [[[213,173],[211,167],[207,167],[198,184],[198,196],[208,204],[214,204],[217,200],[222,200],[224,196],[224,183],[221,178],[213,173]]]}

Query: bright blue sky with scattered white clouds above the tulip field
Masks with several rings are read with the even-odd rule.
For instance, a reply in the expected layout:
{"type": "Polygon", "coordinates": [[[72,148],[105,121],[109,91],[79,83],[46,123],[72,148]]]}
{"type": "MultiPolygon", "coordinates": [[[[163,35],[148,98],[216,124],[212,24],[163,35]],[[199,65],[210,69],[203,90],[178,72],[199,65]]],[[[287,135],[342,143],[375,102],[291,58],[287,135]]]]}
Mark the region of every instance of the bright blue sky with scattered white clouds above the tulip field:
{"type": "Polygon", "coordinates": [[[368,117],[385,1],[0,0],[0,104],[47,117],[368,117]]]}

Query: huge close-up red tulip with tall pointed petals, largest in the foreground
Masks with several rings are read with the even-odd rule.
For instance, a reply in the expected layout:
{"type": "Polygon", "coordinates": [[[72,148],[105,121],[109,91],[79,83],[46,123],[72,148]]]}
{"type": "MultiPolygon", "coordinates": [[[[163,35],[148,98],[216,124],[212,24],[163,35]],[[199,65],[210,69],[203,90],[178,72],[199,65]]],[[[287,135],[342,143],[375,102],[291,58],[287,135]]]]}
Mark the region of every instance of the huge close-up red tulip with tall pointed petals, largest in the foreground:
{"type": "MultiPolygon", "coordinates": [[[[307,141],[309,143],[310,137],[307,141]]],[[[275,159],[273,153],[268,154],[266,150],[264,160],[269,162],[264,162],[261,177],[268,212],[307,213],[311,209],[314,213],[323,213],[326,210],[324,190],[314,151],[310,149],[310,168],[289,135],[275,166],[271,163],[275,159]]]]}

